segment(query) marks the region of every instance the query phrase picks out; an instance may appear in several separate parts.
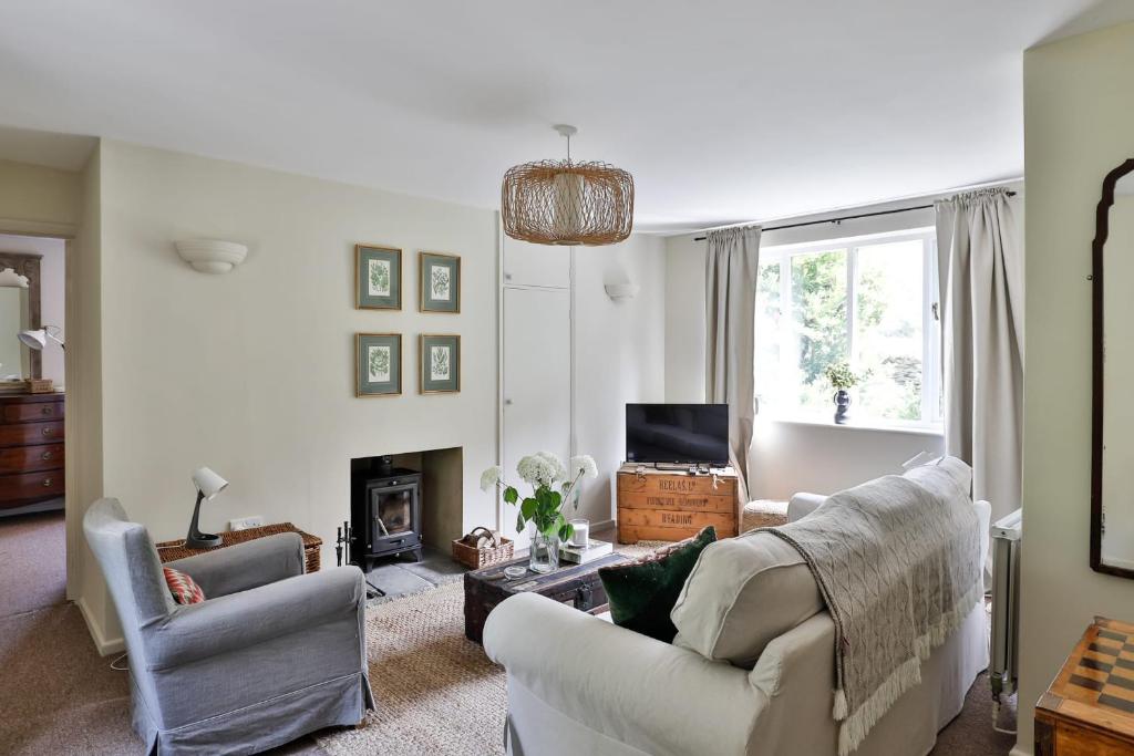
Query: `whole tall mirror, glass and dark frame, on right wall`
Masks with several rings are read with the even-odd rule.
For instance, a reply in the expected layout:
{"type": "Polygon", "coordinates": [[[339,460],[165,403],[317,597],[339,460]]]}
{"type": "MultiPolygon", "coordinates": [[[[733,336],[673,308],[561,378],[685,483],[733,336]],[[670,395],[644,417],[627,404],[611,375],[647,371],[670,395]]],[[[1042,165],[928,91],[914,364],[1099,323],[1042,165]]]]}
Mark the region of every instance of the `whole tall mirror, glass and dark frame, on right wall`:
{"type": "Polygon", "coordinates": [[[1107,175],[1095,220],[1091,567],[1134,577],[1134,159],[1107,175]]]}

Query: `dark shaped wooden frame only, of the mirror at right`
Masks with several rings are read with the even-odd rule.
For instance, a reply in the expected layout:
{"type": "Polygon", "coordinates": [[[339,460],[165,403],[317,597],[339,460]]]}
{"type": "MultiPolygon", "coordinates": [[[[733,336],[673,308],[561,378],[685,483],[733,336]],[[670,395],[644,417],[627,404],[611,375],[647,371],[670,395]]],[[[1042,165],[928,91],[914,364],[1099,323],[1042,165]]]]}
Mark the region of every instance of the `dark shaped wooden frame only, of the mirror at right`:
{"type": "Polygon", "coordinates": [[[1102,180],[1102,198],[1094,213],[1094,241],[1091,244],[1091,569],[1124,578],[1134,578],[1134,570],[1102,562],[1102,424],[1105,404],[1106,345],[1102,312],[1102,252],[1110,233],[1110,206],[1115,204],[1115,185],[1127,173],[1134,173],[1134,158],[1114,169],[1102,180]]]}

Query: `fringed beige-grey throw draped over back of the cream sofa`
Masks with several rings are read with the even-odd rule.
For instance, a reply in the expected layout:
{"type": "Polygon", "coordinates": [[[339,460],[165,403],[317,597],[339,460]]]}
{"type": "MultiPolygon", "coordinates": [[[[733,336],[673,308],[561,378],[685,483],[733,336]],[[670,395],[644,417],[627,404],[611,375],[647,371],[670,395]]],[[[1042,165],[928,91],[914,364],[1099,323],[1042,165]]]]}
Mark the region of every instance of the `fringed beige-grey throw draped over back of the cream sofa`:
{"type": "Polygon", "coordinates": [[[835,494],[807,517],[767,528],[806,560],[835,620],[839,756],[921,682],[921,663],[983,595],[971,472],[942,461],[835,494]]]}

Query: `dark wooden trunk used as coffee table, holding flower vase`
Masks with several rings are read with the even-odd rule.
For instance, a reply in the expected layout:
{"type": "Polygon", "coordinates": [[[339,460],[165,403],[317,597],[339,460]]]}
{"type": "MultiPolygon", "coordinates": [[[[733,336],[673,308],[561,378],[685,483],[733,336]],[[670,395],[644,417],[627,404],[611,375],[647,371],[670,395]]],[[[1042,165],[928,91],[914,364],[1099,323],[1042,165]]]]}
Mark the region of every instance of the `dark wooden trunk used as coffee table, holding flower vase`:
{"type": "Polygon", "coordinates": [[[607,554],[586,564],[562,564],[555,572],[540,575],[527,571],[515,580],[503,569],[513,564],[527,566],[527,557],[465,572],[465,637],[481,643],[489,612],[508,596],[538,593],[575,609],[598,614],[607,611],[607,592],[599,579],[599,568],[631,561],[623,554],[607,554]]]}

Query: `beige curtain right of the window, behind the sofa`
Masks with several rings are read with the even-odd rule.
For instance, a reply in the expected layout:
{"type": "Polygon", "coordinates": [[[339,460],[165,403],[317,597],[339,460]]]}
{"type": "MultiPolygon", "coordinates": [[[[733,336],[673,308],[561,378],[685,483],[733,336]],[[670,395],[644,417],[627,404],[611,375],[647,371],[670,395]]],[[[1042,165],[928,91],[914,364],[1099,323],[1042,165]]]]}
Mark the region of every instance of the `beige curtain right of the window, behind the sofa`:
{"type": "Polygon", "coordinates": [[[1021,506],[1024,261],[1005,189],[936,203],[946,451],[993,521],[1021,506]]]}

